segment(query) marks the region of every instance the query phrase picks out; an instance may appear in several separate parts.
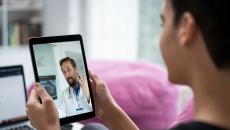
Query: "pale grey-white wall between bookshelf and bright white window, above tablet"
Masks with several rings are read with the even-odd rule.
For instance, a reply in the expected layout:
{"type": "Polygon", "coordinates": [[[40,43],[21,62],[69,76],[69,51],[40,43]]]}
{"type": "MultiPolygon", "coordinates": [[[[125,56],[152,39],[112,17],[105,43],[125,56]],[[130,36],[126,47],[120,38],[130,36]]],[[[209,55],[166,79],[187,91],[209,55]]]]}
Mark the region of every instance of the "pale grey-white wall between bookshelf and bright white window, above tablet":
{"type": "Polygon", "coordinates": [[[44,0],[44,30],[47,35],[81,33],[81,0],[44,0]]]}

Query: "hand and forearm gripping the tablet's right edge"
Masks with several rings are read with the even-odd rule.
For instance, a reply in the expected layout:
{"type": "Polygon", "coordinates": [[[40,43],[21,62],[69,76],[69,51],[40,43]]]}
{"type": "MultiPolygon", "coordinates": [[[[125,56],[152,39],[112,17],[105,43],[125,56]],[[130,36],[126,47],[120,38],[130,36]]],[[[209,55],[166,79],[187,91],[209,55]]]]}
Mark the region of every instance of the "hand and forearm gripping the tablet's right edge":
{"type": "Polygon", "coordinates": [[[133,121],[114,101],[105,82],[97,75],[89,73],[97,117],[106,122],[112,130],[138,130],[133,121]]]}

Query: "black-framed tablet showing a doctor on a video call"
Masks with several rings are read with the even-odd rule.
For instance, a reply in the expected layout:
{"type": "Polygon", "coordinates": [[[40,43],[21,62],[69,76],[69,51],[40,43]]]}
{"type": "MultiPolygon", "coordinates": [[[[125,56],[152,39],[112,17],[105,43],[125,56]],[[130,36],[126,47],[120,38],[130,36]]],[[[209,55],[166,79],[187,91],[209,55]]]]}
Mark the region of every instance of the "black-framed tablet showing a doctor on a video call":
{"type": "Polygon", "coordinates": [[[53,98],[61,125],[94,117],[81,35],[31,38],[29,48],[36,82],[53,98]]]}

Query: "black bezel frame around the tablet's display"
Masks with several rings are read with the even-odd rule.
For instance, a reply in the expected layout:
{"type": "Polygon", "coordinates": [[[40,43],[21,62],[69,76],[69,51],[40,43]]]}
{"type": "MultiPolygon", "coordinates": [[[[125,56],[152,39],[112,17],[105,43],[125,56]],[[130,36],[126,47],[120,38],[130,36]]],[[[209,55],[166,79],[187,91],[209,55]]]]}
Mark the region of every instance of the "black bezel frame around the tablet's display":
{"type": "Polygon", "coordinates": [[[76,34],[76,35],[36,37],[36,38],[30,38],[29,39],[29,49],[30,49],[32,65],[33,65],[33,70],[34,70],[36,82],[39,82],[39,76],[38,76],[38,72],[37,72],[37,65],[36,65],[36,61],[35,61],[33,45],[48,44],[48,43],[61,43],[61,42],[70,42],[70,41],[80,41],[80,46],[81,46],[81,50],[82,50],[82,57],[83,57],[83,62],[84,62],[85,72],[86,72],[86,79],[88,82],[88,87],[89,87],[93,111],[88,112],[88,113],[79,114],[79,115],[70,116],[70,117],[60,118],[60,124],[61,125],[95,117],[94,99],[93,99],[93,93],[92,93],[92,88],[91,88],[89,74],[88,74],[88,66],[87,66],[86,58],[85,58],[85,51],[84,51],[82,36],[80,34],[76,34]]]}

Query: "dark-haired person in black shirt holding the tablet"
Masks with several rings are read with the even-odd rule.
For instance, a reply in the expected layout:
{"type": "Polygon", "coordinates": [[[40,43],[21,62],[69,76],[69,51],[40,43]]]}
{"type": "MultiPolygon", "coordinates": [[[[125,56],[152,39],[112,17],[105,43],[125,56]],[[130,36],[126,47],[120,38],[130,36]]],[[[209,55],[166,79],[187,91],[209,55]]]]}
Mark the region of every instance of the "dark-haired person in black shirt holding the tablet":
{"type": "MultiPolygon", "coordinates": [[[[193,121],[179,124],[170,130],[229,130],[229,0],[164,2],[160,47],[168,78],[173,83],[191,86],[195,100],[193,121]]],[[[136,125],[113,100],[104,81],[93,73],[90,78],[96,116],[112,130],[137,130],[136,125]]],[[[57,130],[56,108],[44,93],[45,90],[38,85],[28,101],[28,117],[38,129],[57,130]],[[44,101],[48,103],[39,103],[37,97],[47,97],[48,100],[44,101]],[[40,111],[51,115],[36,116],[40,111]],[[39,122],[44,118],[47,122],[39,122]]]]}

